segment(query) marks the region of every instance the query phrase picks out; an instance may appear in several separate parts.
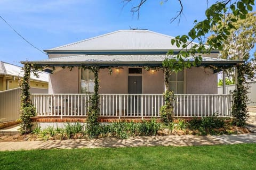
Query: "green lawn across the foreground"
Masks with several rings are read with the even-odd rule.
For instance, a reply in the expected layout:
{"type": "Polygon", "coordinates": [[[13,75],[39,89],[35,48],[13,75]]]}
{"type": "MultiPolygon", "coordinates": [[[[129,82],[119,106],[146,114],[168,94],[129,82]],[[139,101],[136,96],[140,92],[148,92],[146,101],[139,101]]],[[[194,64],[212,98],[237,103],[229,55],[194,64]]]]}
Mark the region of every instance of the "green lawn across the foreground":
{"type": "Polygon", "coordinates": [[[5,151],[0,169],[256,169],[256,144],[5,151]]]}

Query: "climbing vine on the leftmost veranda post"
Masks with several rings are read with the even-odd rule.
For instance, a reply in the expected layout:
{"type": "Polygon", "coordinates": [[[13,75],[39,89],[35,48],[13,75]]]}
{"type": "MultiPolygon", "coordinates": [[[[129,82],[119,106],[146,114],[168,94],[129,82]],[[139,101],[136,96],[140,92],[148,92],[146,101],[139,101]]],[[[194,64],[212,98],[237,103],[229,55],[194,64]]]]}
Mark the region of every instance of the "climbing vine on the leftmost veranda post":
{"type": "Polygon", "coordinates": [[[34,105],[31,103],[30,100],[30,93],[29,93],[29,78],[31,72],[31,64],[25,64],[23,67],[24,75],[21,84],[21,133],[26,134],[31,132],[31,127],[33,126],[31,122],[31,117],[36,115],[36,109],[34,105]]]}

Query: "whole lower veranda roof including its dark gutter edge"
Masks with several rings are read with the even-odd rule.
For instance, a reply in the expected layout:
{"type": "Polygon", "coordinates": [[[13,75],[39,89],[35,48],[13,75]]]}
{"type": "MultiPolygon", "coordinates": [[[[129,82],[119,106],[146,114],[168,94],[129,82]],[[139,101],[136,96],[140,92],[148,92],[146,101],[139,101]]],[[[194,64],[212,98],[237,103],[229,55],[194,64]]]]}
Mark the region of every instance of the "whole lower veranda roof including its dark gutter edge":
{"type": "MultiPolygon", "coordinates": [[[[37,66],[162,66],[165,58],[166,55],[77,55],[21,63],[31,63],[37,66]]],[[[193,62],[194,58],[188,57],[186,60],[193,62]]],[[[202,57],[201,66],[232,67],[241,62],[243,61],[202,57]]]]}

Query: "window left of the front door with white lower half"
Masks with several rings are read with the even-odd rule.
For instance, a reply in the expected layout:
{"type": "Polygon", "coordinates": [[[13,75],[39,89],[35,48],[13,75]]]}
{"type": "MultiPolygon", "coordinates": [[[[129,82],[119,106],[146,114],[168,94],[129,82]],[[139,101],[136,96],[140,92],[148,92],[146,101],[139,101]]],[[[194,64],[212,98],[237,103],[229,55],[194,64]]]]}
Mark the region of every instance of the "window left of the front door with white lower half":
{"type": "Polygon", "coordinates": [[[89,69],[81,70],[81,93],[92,94],[94,91],[94,74],[89,69]]]}

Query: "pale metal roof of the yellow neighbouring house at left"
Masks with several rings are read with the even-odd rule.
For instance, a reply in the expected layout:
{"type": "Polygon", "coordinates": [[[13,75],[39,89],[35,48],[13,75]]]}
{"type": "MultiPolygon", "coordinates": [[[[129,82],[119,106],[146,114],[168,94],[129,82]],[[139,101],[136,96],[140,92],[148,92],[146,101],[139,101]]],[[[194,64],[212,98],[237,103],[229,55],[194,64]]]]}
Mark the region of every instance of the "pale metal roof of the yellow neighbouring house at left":
{"type": "MultiPolygon", "coordinates": [[[[0,61],[0,74],[23,77],[23,72],[22,72],[21,68],[22,67],[20,67],[20,66],[0,61]]],[[[39,78],[37,78],[33,74],[31,74],[30,78],[37,80],[37,81],[45,81],[45,82],[49,81],[48,73],[38,72],[38,75],[39,75],[39,78]]]]}

